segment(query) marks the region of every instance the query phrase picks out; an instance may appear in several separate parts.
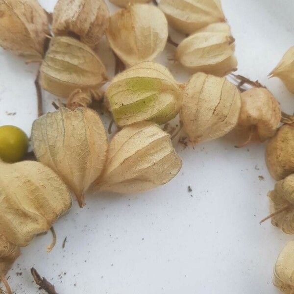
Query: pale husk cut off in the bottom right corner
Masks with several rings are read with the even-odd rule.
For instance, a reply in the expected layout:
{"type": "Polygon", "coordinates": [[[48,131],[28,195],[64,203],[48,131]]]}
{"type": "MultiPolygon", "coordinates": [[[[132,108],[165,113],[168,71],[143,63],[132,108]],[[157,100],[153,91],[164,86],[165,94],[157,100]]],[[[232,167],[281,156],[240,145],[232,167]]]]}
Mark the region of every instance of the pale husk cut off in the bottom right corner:
{"type": "Polygon", "coordinates": [[[290,241],[280,252],[273,270],[273,284],[284,294],[294,291],[294,241],[290,241]]]}

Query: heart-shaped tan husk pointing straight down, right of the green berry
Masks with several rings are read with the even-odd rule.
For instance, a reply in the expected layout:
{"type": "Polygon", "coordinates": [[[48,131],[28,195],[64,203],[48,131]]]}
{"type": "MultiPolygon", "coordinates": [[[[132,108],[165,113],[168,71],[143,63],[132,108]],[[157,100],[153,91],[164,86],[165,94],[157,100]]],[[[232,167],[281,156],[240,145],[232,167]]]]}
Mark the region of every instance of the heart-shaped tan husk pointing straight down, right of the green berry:
{"type": "Polygon", "coordinates": [[[107,157],[107,136],[98,114],[89,108],[60,108],[34,121],[31,140],[37,159],[62,177],[82,207],[107,157]]]}

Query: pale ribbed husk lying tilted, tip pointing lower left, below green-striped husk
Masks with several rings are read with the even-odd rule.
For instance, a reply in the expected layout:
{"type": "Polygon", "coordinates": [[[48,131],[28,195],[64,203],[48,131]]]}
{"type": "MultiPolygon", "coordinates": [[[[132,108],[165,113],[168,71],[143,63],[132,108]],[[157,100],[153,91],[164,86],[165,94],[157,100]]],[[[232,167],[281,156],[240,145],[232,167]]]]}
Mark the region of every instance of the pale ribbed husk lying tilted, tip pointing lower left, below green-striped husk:
{"type": "Polygon", "coordinates": [[[111,140],[96,188],[123,194],[146,191],[169,182],[181,165],[168,133],[155,123],[137,123],[111,140]]]}

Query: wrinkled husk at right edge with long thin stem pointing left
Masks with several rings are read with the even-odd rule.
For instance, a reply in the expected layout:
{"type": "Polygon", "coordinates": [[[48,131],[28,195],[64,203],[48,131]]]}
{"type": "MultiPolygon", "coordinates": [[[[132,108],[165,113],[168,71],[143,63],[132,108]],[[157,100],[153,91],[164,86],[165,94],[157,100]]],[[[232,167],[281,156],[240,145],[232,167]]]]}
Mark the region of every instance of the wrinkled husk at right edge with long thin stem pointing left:
{"type": "Polygon", "coordinates": [[[278,181],[268,196],[271,214],[289,206],[289,209],[271,218],[272,225],[280,228],[286,234],[294,234],[294,174],[278,181]]]}

